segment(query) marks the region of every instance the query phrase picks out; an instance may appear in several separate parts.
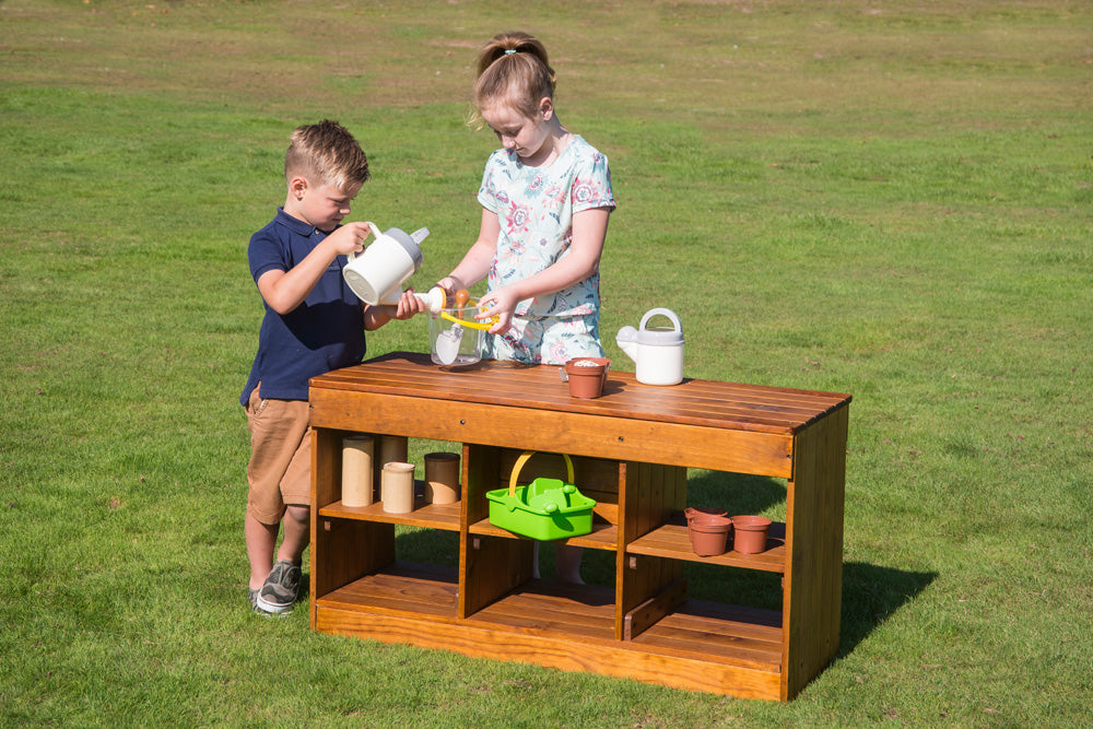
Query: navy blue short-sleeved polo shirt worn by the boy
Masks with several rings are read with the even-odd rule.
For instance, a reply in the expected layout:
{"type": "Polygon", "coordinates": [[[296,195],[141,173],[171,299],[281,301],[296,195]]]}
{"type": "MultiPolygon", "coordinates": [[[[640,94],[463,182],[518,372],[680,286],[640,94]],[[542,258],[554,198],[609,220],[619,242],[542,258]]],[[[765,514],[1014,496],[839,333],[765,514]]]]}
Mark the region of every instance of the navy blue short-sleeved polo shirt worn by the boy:
{"type": "MultiPolygon", "coordinates": [[[[250,274],[290,271],[327,237],[314,225],[278,208],[277,217],[250,237],[250,274]]],[[[239,402],[246,405],[261,383],[262,398],[306,400],[307,380],[364,360],[364,311],[342,278],[345,257],[338,256],[307,298],[285,315],[266,304],[258,332],[258,354],[239,402]]],[[[265,299],[263,299],[265,303],[265,299]]]]}

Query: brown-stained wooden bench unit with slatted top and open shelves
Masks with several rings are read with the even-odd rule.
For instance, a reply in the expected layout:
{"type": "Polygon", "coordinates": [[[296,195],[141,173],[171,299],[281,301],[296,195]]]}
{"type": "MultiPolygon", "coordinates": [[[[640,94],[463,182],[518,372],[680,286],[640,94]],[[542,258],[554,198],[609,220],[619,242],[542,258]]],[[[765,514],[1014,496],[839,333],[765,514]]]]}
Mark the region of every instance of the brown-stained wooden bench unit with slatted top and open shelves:
{"type": "Polygon", "coordinates": [[[312,626],[794,697],[838,649],[849,396],[697,379],[651,387],[611,372],[603,397],[576,400],[557,369],[446,372],[393,353],[312,380],[312,626]],[[342,506],[341,439],[352,433],[461,443],[462,498],[406,515],[342,506]],[[559,472],[556,454],[574,457],[597,506],[592,532],[569,543],[614,553],[613,587],[532,579],[533,542],[491,526],[485,492],[508,485],[522,450],[545,452],[521,481],[559,472]],[[786,480],[786,521],[766,552],[694,554],[680,518],[689,467],[786,480]],[[458,567],[397,558],[400,524],[457,533],[458,567]],[[740,568],[780,574],[781,609],[689,599],[686,562],[724,565],[726,579],[740,568]]]}

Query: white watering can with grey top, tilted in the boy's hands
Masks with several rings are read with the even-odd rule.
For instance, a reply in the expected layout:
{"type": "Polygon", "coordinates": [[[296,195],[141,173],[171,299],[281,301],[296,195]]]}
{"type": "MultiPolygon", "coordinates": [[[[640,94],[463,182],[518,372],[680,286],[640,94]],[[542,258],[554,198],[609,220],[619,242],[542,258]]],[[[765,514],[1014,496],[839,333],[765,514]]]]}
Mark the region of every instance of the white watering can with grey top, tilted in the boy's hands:
{"type": "MultiPolygon", "coordinates": [[[[349,254],[342,270],[345,283],[365,304],[398,304],[402,284],[421,267],[421,242],[428,236],[422,227],[408,234],[397,227],[380,233],[375,223],[368,223],[375,236],[363,254],[349,254]]],[[[444,307],[443,292],[434,289],[427,294],[415,294],[431,311],[444,307]]]]}

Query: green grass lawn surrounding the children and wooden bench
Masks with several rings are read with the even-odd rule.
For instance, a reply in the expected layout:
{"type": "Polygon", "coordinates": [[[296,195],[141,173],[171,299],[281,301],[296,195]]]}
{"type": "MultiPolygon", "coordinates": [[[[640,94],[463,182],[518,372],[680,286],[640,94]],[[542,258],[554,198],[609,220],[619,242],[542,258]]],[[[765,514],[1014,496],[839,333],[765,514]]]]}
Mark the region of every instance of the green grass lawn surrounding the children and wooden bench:
{"type": "MultiPolygon", "coordinates": [[[[5,2],[0,725],[1093,722],[1090,37],[1088,3],[1047,0],[5,2]],[[287,134],[357,133],[354,217],[427,225],[427,285],[477,233],[470,69],[509,27],[611,161],[614,366],[668,306],[689,376],[854,395],[841,650],[788,705],[245,610],[246,244],[287,134]]],[[[426,346],[424,320],[369,334],[426,346]]],[[[785,508],[765,479],[690,489],[785,508]]],[[[732,589],[769,607],[767,583],[732,589]]]]}

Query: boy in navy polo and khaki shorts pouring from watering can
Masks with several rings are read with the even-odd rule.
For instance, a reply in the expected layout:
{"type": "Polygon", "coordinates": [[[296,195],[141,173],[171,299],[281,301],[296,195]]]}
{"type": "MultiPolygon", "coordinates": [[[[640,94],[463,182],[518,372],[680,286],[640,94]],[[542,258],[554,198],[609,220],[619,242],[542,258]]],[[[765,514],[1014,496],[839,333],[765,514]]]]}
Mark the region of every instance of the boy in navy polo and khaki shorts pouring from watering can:
{"type": "Polygon", "coordinates": [[[368,161],[344,127],[324,120],[293,131],[284,177],[284,207],[251,236],[248,248],[266,316],[239,399],[251,448],[244,527],[248,595],[261,614],[292,610],[310,540],[308,379],[360,364],[365,330],[424,310],[409,293],[397,306],[362,304],[342,279],[345,255],[362,251],[369,233],[364,223],[340,224],[369,178],[368,161]]]}

